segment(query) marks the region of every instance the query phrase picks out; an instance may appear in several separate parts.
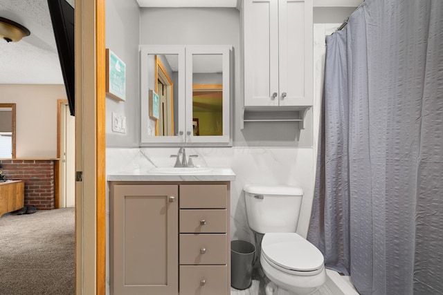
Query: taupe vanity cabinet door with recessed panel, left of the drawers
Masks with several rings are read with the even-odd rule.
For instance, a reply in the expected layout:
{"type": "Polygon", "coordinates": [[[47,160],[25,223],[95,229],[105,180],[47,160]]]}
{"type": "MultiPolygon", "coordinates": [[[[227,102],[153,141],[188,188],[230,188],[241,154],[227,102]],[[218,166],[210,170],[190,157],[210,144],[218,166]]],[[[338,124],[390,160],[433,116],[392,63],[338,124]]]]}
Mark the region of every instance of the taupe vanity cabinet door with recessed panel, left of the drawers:
{"type": "Polygon", "coordinates": [[[177,295],[178,186],[111,186],[111,294],[177,295]]]}

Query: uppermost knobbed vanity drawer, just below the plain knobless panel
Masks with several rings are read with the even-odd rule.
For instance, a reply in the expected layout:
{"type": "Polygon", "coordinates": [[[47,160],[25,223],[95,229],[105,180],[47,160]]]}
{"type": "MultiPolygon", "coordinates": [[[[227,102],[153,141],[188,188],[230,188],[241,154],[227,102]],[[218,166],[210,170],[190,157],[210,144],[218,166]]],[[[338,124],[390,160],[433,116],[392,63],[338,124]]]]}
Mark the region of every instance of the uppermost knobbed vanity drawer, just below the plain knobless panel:
{"type": "Polygon", "coordinates": [[[226,209],[180,210],[180,233],[226,233],[226,209]]]}

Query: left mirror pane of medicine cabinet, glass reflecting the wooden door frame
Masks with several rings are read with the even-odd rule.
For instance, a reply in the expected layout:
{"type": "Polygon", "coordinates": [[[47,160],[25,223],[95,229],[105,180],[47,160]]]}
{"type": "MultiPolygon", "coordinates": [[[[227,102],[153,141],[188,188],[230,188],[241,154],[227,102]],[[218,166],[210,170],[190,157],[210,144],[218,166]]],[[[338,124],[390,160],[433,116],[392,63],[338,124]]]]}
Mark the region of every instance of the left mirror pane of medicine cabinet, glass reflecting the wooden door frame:
{"type": "Polygon", "coordinates": [[[178,130],[178,55],[148,55],[150,91],[150,128],[156,136],[177,135],[178,130]],[[155,96],[158,97],[158,101],[155,96]],[[158,107],[157,107],[158,106],[158,107]]]}

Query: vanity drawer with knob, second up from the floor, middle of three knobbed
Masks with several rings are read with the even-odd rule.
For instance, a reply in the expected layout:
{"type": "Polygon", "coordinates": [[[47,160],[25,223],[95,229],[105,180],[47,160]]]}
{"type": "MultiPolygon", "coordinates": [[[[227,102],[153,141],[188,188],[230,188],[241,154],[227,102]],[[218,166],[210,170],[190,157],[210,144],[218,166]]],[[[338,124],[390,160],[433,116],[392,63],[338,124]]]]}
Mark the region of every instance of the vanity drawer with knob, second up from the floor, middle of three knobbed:
{"type": "Polygon", "coordinates": [[[226,234],[180,234],[181,265],[225,265],[226,234]]]}

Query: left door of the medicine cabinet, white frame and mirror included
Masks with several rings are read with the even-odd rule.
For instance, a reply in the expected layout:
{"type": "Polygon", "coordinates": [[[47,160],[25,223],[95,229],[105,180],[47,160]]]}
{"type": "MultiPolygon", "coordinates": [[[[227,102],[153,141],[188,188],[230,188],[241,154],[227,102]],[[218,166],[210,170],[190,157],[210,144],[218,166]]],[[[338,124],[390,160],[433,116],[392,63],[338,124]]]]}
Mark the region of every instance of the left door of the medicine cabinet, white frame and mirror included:
{"type": "Polygon", "coordinates": [[[183,46],[141,48],[141,142],[185,139],[183,46]]]}

